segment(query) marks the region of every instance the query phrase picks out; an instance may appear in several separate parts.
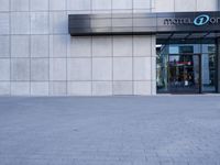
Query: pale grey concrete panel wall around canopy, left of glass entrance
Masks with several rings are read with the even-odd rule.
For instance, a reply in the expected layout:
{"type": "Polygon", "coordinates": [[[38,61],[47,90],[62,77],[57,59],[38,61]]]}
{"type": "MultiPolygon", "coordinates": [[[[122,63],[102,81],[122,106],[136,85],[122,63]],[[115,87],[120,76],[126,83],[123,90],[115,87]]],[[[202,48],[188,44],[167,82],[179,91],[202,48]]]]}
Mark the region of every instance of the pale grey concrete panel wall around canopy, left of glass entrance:
{"type": "Polygon", "coordinates": [[[152,12],[152,0],[0,0],[0,96],[156,92],[155,36],[68,34],[68,14],[152,12]]]}

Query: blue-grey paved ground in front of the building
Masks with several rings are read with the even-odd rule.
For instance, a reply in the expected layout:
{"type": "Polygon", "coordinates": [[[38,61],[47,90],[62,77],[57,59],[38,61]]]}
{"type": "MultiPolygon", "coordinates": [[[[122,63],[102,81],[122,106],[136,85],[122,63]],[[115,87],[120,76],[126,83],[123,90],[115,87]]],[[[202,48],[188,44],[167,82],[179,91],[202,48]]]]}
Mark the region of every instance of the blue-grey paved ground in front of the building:
{"type": "Polygon", "coordinates": [[[220,165],[220,96],[0,98],[0,165],[220,165]]]}

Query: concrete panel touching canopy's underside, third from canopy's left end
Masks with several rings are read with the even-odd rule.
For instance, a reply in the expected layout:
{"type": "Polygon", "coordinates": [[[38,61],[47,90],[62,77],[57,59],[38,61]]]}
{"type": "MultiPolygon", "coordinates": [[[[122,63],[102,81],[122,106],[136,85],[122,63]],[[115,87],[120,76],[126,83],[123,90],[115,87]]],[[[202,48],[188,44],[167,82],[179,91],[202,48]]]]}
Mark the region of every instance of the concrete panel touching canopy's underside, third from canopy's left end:
{"type": "Polygon", "coordinates": [[[132,36],[113,36],[113,56],[132,56],[132,36]]]}

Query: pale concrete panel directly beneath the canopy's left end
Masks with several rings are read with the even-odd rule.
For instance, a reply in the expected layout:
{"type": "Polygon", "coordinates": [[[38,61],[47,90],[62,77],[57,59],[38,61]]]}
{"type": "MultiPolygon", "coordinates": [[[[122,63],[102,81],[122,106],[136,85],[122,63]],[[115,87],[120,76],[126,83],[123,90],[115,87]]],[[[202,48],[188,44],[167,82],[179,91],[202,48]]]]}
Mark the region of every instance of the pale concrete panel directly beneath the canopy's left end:
{"type": "Polygon", "coordinates": [[[91,37],[69,37],[68,57],[91,57],[91,37]]]}

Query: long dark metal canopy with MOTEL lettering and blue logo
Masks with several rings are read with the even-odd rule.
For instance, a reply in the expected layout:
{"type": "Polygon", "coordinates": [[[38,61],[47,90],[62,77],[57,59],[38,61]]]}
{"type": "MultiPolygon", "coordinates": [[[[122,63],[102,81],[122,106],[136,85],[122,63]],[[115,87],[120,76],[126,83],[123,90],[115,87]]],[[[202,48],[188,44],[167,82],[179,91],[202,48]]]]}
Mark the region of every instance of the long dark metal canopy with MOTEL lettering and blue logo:
{"type": "Polygon", "coordinates": [[[73,36],[220,32],[220,12],[70,14],[68,23],[73,36]]]}

